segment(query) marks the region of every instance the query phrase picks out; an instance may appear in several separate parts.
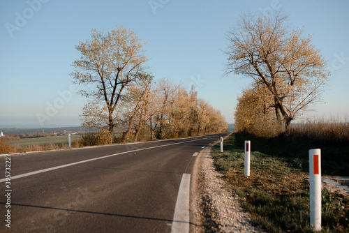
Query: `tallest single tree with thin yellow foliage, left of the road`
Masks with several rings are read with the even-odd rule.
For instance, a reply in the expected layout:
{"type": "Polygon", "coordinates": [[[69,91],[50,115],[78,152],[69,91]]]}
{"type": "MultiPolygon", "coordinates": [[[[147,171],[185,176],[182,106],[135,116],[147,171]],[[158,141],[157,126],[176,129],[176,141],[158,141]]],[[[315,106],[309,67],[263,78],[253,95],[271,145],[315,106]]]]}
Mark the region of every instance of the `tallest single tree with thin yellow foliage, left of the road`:
{"type": "MultiPolygon", "coordinates": [[[[84,84],[82,96],[90,98],[85,114],[100,107],[106,114],[107,127],[113,135],[116,123],[115,110],[129,84],[144,78],[142,65],[147,61],[143,45],[134,31],[118,27],[106,34],[92,30],[91,40],[76,46],[82,57],[73,62],[75,70],[70,75],[76,84],[84,84]]],[[[90,119],[92,125],[94,119],[90,119]]],[[[105,122],[105,121],[104,121],[105,122]]],[[[103,123],[103,121],[99,121],[103,123]]],[[[96,124],[98,125],[98,123],[96,124]]]]}

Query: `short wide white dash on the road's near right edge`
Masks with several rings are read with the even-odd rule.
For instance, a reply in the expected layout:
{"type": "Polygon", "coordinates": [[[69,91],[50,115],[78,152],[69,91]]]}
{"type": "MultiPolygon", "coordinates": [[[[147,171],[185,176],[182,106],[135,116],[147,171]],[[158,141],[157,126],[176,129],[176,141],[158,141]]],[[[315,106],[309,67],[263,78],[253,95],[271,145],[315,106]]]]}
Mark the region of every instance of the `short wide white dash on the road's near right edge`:
{"type": "Polygon", "coordinates": [[[189,232],[189,191],[191,190],[191,174],[184,173],[177,195],[176,207],[172,223],[172,233],[189,232]]]}

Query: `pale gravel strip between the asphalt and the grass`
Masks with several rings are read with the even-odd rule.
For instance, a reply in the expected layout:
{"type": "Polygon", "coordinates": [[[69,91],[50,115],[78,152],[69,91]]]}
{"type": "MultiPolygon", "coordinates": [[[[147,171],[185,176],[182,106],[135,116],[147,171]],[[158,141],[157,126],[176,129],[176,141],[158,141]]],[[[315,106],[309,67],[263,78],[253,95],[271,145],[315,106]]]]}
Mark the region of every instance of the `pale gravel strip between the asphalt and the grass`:
{"type": "Polygon", "coordinates": [[[210,151],[211,147],[207,147],[199,154],[193,170],[191,232],[265,232],[252,225],[239,197],[225,188],[210,151]]]}

